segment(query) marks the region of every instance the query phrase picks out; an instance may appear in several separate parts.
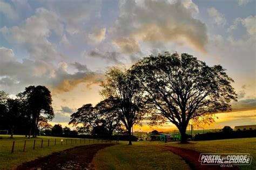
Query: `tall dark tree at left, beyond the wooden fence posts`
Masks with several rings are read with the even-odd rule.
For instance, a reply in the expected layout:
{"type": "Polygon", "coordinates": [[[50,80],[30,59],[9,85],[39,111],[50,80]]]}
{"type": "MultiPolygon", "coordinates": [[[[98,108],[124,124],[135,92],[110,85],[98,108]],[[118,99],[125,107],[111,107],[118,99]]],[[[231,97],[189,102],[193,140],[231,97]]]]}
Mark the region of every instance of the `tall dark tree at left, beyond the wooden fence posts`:
{"type": "Polygon", "coordinates": [[[25,112],[29,122],[29,137],[37,136],[39,116],[44,114],[49,120],[54,117],[52,109],[51,92],[45,86],[29,86],[18,97],[22,98],[25,104],[25,112]]]}

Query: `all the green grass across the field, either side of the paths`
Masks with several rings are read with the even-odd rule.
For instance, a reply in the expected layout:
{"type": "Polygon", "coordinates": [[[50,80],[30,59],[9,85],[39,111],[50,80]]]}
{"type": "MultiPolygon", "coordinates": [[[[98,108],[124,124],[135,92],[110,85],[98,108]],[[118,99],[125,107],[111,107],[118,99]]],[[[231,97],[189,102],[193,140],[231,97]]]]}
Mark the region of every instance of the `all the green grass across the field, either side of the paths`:
{"type": "MultiPolygon", "coordinates": [[[[38,137],[36,139],[36,148],[33,148],[33,138],[26,139],[24,136],[14,136],[9,139],[7,136],[0,136],[0,169],[16,167],[22,162],[30,161],[38,157],[44,157],[52,152],[62,151],[67,148],[88,145],[89,140],[68,139],[57,137],[38,137]],[[55,138],[57,139],[54,146],[55,138]],[[26,151],[23,152],[24,140],[26,142],[26,151]],[[41,140],[44,140],[41,148],[41,140]],[[48,139],[50,146],[48,147],[48,139]],[[60,145],[60,139],[64,139],[63,145],[60,145]],[[11,154],[12,141],[15,140],[15,150],[11,154]]],[[[94,144],[97,143],[95,140],[94,144]]],[[[101,143],[101,141],[99,141],[101,143]]],[[[92,140],[90,140],[90,144],[92,140]]],[[[160,141],[138,141],[133,142],[132,146],[127,145],[127,141],[120,141],[120,145],[107,147],[100,150],[93,158],[93,163],[97,169],[189,169],[185,161],[178,155],[170,151],[164,151],[154,145],[166,145],[189,148],[202,153],[250,153],[253,157],[251,166],[241,166],[242,169],[256,169],[256,138],[224,139],[209,141],[190,141],[189,144],[179,144],[178,142],[163,143],[160,141]]]]}

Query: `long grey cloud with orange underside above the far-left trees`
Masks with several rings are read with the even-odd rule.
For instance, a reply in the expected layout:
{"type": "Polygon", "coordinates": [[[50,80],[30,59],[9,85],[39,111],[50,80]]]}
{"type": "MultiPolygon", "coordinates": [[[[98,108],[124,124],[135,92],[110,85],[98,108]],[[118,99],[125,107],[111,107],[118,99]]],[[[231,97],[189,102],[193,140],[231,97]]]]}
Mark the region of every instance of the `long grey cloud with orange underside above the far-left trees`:
{"type": "Polygon", "coordinates": [[[18,62],[14,52],[5,47],[0,47],[0,57],[0,88],[12,94],[30,85],[47,86],[53,94],[59,94],[76,88],[80,83],[89,87],[104,80],[103,74],[90,72],[78,62],[71,64],[78,72],[70,74],[67,72],[69,65],[65,62],[61,62],[58,68],[42,60],[18,62]]]}

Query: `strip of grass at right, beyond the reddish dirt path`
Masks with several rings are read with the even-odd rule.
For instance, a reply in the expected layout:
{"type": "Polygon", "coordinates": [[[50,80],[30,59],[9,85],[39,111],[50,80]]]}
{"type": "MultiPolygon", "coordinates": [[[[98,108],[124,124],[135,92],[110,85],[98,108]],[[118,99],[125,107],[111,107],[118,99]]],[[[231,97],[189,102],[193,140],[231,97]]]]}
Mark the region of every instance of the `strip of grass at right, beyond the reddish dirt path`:
{"type": "Polygon", "coordinates": [[[256,169],[256,138],[190,141],[189,144],[144,141],[144,145],[147,144],[183,147],[201,153],[250,153],[250,156],[252,157],[251,166],[240,166],[239,168],[256,169]]]}

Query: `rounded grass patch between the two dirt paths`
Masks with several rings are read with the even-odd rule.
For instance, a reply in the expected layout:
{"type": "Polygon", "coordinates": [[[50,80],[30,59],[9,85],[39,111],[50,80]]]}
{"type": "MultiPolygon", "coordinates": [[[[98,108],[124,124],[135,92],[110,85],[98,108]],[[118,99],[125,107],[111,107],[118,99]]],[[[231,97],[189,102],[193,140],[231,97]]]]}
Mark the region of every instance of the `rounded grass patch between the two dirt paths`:
{"type": "Polygon", "coordinates": [[[140,142],[104,148],[93,158],[96,169],[190,169],[178,155],[140,142]]]}

